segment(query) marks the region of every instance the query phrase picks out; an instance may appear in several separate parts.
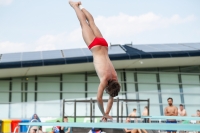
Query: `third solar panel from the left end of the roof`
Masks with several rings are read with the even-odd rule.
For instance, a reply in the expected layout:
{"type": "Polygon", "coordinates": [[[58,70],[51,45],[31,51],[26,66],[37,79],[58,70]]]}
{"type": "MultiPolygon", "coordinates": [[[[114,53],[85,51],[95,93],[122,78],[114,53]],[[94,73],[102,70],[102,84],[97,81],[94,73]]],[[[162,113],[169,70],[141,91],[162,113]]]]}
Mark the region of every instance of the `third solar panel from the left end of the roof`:
{"type": "Polygon", "coordinates": [[[43,59],[56,59],[63,58],[61,50],[53,50],[53,51],[43,51],[42,52],[43,59]]]}

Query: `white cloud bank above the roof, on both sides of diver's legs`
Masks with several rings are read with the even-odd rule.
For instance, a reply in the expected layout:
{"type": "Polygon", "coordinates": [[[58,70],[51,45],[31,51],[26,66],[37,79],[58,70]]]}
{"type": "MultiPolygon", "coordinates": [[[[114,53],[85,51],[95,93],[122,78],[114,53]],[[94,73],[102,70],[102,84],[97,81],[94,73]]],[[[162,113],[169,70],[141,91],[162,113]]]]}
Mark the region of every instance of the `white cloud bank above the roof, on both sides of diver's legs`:
{"type": "MultiPolygon", "coordinates": [[[[95,18],[95,22],[108,42],[115,41],[116,43],[123,44],[126,43],[125,41],[128,39],[133,38],[135,35],[140,33],[188,23],[194,21],[194,19],[194,15],[184,18],[177,14],[171,17],[163,17],[150,12],[139,16],[131,16],[123,13],[111,17],[98,16],[95,18]]],[[[31,45],[9,41],[0,42],[1,53],[31,50],[71,49],[80,47],[87,47],[82,39],[80,27],[70,33],[65,32],[57,35],[44,35],[31,45]]]]}

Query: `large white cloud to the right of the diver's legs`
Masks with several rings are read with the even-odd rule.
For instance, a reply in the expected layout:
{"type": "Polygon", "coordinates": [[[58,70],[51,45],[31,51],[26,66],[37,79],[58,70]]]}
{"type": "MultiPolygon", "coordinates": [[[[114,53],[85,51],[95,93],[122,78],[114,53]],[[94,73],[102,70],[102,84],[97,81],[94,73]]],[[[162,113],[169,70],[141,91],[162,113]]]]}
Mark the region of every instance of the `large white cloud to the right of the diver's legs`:
{"type": "Polygon", "coordinates": [[[101,29],[104,36],[110,37],[125,37],[135,34],[154,30],[158,28],[166,28],[171,25],[181,24],[193,21],[193,15],[186,18],[181,18],[179,15],[173,15],[169,18],[147,13],[140,16],[130,16],[120,13],[117,16],[95,18],[95,22],[101,29]]]}

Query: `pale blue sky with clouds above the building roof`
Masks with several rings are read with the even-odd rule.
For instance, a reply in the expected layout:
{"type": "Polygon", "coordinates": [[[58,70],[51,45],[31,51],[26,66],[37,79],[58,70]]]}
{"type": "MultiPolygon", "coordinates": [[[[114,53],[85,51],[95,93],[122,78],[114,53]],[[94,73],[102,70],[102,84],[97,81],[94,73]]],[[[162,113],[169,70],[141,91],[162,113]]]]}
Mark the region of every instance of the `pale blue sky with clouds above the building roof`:
{"type": "MultiPolygon", "coordinates": [[[[200,42],[199,0],[82,0],[111,44],[200,42]]],[[[86,47],[68,0],[0,0],[0,53],[86,47]]]]}

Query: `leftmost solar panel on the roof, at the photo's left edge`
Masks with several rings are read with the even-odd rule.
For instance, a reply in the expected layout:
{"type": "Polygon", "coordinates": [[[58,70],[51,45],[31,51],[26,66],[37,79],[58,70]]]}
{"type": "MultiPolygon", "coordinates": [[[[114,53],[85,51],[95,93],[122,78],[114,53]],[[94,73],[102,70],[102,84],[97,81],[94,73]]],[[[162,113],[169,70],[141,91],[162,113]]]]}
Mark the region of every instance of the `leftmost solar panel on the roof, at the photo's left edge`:
{"type": "Polygon", "coordinates": [[[21,53],[2,54],[1,62],[21,61],[21,53]]]}

